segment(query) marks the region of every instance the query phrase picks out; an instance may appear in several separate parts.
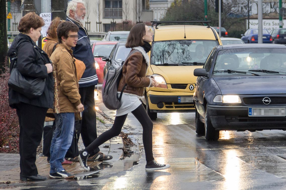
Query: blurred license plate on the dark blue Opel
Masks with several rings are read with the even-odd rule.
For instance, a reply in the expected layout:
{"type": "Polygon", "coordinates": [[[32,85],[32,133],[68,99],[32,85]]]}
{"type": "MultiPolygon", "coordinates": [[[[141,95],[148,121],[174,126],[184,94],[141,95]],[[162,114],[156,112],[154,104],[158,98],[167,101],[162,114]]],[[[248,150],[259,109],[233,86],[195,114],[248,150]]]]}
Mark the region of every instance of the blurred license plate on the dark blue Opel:
{"type": "Polygon", "coordinates": [[[285,117],[286,109],[283,108],[248,108],[249,117],[285,117]]]}

